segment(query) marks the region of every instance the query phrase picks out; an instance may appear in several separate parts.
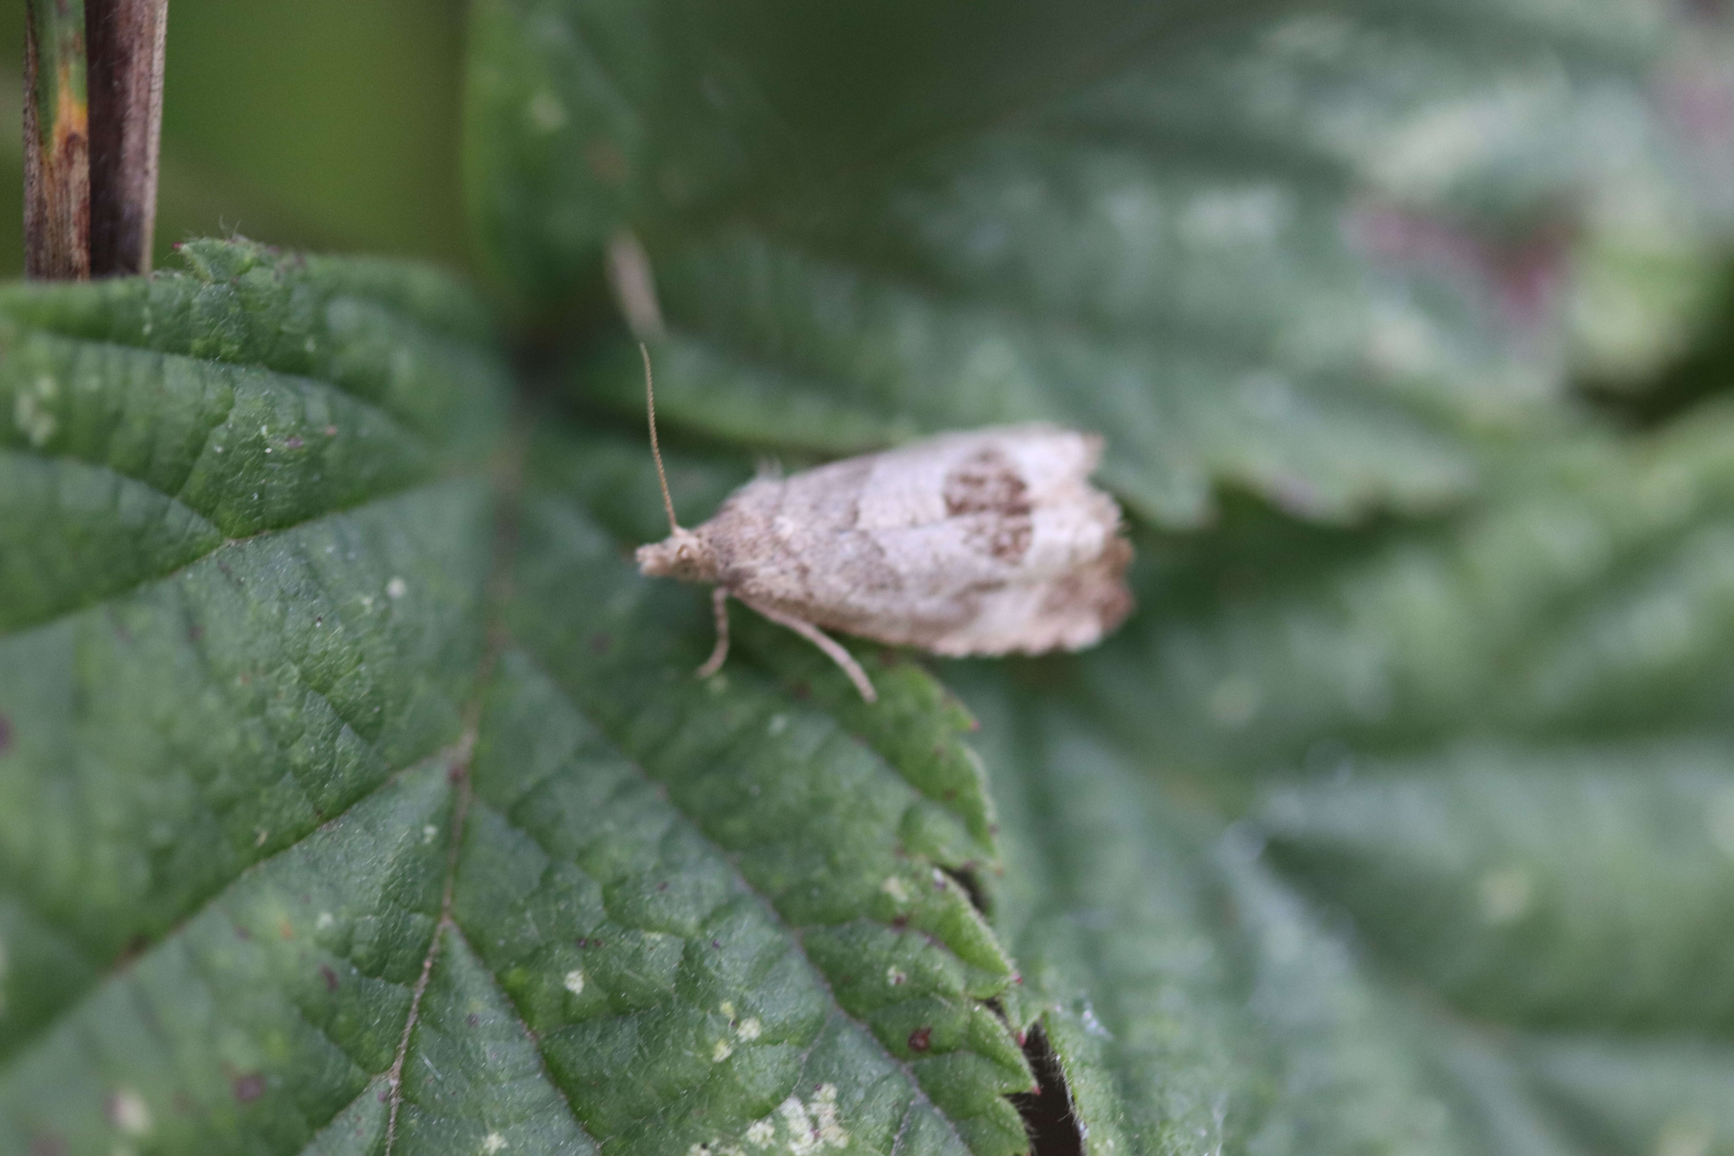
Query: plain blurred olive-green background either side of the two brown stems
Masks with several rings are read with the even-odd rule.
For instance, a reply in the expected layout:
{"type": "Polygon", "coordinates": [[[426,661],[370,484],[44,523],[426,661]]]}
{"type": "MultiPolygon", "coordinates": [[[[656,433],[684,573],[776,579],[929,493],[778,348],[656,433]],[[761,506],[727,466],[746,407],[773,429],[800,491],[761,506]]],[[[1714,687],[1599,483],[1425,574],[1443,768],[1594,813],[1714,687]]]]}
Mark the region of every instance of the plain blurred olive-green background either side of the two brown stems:
{"type": "MultiPolygon", "coordinates": [[[[175,241],[466,262],[463,0],[168,5],[158,260],[175,241]]],[[[23,267],[24,5],[0,12],[0,276],[23,267]],[[10,78],[7,78],[10,76],[10,78]]]]}

